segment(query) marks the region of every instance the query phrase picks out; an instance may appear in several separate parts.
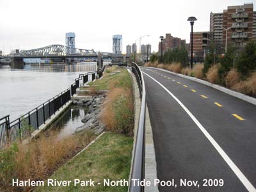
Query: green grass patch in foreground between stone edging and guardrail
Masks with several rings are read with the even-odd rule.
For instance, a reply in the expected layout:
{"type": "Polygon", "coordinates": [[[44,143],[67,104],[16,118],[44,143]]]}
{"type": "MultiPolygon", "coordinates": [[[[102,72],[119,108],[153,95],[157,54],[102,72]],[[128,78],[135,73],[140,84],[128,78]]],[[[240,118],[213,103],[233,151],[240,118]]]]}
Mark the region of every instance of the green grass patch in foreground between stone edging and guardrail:
{"type": "Polygon", "coordinates": [[[127,191],[127,186],[97,185],[103,179],[129,179],[133,138],[106,132],[93,145],[67,164],[61,166],[51,179],[72,180],[69,187],[40,187],[36,192],[48,191],[127,191]],[[74,179],[94,180],[95,186],[74,186],[74,179]]]}

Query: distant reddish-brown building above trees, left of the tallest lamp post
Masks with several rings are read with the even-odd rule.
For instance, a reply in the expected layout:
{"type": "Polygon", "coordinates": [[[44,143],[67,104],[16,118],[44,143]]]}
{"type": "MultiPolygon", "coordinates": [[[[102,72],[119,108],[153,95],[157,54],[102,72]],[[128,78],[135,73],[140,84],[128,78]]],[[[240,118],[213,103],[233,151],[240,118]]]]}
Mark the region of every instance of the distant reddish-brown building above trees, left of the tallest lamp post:
{"type": "MultiPolygon", "coordinates": [[[[186,40],[182,40],[178,37],[173,37],[170,33],[166,33],[165,38],[163,39],[163,52],[176,47],[185,47],[185,45],[186,40]]],[[[158,45],[158,52],[161,52],[161,42],[159,42],[158,45]]]]}

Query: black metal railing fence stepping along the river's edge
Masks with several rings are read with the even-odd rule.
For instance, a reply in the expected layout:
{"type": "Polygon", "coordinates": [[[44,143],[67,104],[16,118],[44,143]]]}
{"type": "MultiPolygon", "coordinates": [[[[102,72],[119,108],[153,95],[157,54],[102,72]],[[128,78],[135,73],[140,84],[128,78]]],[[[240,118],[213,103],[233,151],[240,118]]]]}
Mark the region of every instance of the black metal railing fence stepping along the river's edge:
{"type": "MultiPolygon", "coordinates": [[[[104,68],[99,71],[99,76],[101,77],[104,68]]],[[[88,72],[87,74],[80,74],[79,77],[75,79],[75,83],[71,84],[70,88],[12,122],[10,122],[9,115],[0,118],[0,148],[17,139],[22,140],[31,134],[31,132],[39,129],[42,124],[45,124],[46,120],[51,119],[52,115],[55,115],[61,107],[67,104],[71,96],[76,94],[77,88],[89,81],[94,81],[96,73],[97,72],[88,72]]]]}

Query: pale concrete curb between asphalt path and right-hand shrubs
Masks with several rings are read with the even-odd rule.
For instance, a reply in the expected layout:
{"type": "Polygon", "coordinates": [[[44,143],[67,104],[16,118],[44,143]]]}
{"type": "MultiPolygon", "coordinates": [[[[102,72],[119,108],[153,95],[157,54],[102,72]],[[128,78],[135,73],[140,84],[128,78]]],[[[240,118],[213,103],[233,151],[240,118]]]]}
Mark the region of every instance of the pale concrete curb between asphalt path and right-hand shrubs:
{"type": "MultiPolygon", "coordinates": [[[[148,67],[148,68],[156,68],[156,67],[148,67]]],[[[183,78],[185,78],[185,79],[189,79],[189,80],[195,81],[195,82],[197,82],[197,83],[201,83],[201,84],[205,84],[205,85],[207,85],[207,86],[211,86],[212,88],[214,88],[214,89],[216,89],[216,90],[219,90],[219,91],[221,91],[221,92],[227,93],[228,95],[232,95],[233,97],[237,97],[237,98],[242,99],[242,100],[244,100],[244,101],[246,101],[246,102],[250,102],[251,104],[256,105],[256,99],[255,99],[255,98],[250,97],[250,96],[248,96],[248,95],[244,95],[243,93],[234,92],[234,91],[229,90],[229,89],[227,89],[227,88],[225,88],[225,87],[223,87],[223,86],[220,86],[220,85],[218,85],[218,84],[212,84],[212,83],[209,83],[209,82],[204,81],[204,80],[202,80],[202,79],[197,79],[197,78],[195,78],[195,77],[189,77],[189,76],[184,76],[184,75],[182,75],[182,74],[177,74],[177,73],[171,72],[171,71],[169,71],[169,70],[164,70],[163,68],[156,68],[156,69],[161,70],[161,71],[163,71],[163,72],[168,72],[168,73],[170,73],[170,74],[173,74],[174,76],[183,77],[183,78]]]]}

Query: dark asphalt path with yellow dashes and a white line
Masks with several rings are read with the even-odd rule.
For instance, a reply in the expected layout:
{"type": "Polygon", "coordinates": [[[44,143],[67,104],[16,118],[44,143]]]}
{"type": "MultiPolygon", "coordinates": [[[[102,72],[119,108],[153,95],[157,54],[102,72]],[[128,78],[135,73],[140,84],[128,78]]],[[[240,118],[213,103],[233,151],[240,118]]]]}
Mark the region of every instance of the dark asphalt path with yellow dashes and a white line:
{"type": "Polygon", "coordinates": [[[159,191],[255,191],[256,106],[157,68],[141,69],[157,177],[177,184],[159,191]],[[200,186],[181,187],[180,179],[200,186]],[[204,179],[223,179],[224,185],[203,186],[204,179]]]}

